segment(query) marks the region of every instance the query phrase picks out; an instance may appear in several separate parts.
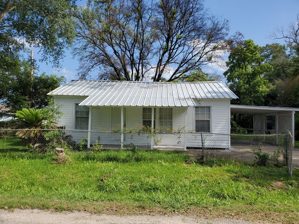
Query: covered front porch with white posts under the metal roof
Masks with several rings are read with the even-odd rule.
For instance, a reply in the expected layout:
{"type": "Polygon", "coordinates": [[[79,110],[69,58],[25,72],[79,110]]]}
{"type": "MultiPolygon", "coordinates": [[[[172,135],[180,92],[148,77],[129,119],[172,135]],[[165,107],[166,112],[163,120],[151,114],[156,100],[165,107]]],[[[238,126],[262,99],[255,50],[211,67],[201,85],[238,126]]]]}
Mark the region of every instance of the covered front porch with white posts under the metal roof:
{"type": "MultiPolygon", "coordinates": [[[[187,131],[188,107],[141,107],[141,106],[88,106],[87,146],[96,141],[105,146],[126,148],[128,145],[142,145],[154,149],[159,144],[172,146],[177,136],[168,129],[183,127],[187,131]],[[142,127],[148,126],[146,132],[142,127]]],[[[180,147],[186,149],[185,135],[181,136],[180,147]]]]}

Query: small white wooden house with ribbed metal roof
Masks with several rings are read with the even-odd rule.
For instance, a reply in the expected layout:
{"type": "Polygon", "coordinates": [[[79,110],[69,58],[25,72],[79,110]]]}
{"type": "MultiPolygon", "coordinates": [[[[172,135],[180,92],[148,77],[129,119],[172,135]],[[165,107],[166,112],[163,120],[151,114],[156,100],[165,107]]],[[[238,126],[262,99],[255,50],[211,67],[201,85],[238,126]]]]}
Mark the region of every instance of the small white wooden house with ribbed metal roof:
{"type": "MultiPolygon", "coordinates": [[[[159,128],[160,146],[185,149],[201,146],[201,141],[194,140],[201,132],[230,134],[230,100],[237,98],[222,82],[72,80],[48,95],[54,95],[55,102],[62,105],[65,115],[59,126],[67,130],[111,131],[150,126],[159,128]],[[192,132],[192,136],[183,134],[178,142],[177,137],[167,133],[169,129],[192,132]]],[[[93,133],[88,135],[88,145],[97,140],[108,145],[147,144],[144,138],[140,134],[129,137],[126,133],[93,133]]],[[[209,147],[230,147],[229,135],[217,145],[212,138],[205,137],[209,147]]]]}

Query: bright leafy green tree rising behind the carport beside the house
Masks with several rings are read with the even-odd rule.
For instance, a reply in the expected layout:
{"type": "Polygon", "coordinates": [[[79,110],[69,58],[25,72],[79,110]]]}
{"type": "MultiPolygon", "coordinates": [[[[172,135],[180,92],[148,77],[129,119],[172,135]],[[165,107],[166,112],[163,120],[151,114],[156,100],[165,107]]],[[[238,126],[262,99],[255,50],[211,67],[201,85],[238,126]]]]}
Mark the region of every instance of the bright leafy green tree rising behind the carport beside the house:
{"type": "Polygon", "coordinates": [[[264,98],[273,85],[264,77],[273,67],[265,62],[260,47],[253,40],[233,46],[223,73],[230,89],[239,97],[233,103],[263,105],[264,98]]]}

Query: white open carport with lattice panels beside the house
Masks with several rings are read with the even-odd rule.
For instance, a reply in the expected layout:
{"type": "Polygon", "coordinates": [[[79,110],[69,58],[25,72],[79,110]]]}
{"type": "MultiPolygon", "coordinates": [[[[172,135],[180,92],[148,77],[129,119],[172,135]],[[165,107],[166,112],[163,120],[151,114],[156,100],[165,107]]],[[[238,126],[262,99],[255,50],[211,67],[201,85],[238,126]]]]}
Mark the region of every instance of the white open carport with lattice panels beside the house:
{"type": "Polygon", "coordinates": [[[294,136],[296,111],[299,108],[230,105],[230,114],[253,114],[253,131],[256,135],[284,135],[291,132],[294,136]]]}

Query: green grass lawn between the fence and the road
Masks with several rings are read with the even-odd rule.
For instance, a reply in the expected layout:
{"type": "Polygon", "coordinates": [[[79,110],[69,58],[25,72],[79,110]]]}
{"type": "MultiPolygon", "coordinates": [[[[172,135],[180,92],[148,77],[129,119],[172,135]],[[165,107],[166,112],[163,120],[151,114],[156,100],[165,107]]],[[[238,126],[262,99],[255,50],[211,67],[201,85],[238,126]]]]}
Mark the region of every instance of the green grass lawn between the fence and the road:
{"type": "Polygon", "coordinates": [[[94,213],[186,212],[299,222],[299,170],[230,160],[199,165],[173,151],[67,152],[19,148],[0,140],[0,208],[85,210],[94,213]],[[5,147],[4,147],[5,145],[5,147]]]}

